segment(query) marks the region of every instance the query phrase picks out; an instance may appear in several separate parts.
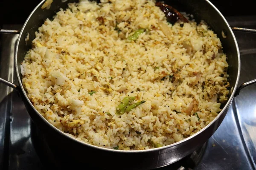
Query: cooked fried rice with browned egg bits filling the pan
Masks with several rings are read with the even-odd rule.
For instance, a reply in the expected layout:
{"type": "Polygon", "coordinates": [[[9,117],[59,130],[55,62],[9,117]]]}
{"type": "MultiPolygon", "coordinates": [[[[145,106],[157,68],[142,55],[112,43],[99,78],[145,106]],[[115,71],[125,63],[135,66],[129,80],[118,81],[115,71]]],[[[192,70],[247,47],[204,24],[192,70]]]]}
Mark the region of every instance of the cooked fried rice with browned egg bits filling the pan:
{"type": "Polygon", "coordinates": [[[35,35],[21,64],[27,95],[47,121],[83,142],[166,146],[204,128],[227,101],[228,63],[216,34],[203,21],[167,23],[154,0],[70,3],[35,35]],[[127,96],[146,102],[117,114],[127,96]]]}

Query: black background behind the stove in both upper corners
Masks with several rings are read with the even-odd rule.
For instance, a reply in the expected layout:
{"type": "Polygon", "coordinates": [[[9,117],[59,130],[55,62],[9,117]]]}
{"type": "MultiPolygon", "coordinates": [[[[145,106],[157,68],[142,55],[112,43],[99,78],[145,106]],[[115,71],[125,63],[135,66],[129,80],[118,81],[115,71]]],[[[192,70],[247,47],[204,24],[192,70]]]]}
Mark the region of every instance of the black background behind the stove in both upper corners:
{"type": "MultiPolygon", "coordinates": [[[[0,0],[0,25],[23,24],[40,1],[41,0],[0,0]]],[[[255,0],[210,1],[224,16],[256,15],[255,0]]]]}

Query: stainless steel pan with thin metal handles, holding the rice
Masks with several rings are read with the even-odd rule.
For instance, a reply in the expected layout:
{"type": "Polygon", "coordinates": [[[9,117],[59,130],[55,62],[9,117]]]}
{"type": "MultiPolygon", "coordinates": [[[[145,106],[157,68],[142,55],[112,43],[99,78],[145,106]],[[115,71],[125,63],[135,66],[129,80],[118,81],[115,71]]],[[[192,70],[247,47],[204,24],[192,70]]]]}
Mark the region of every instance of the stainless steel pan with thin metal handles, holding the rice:
{"type": "MultiPolygon", "coordinates": [[[[172,3],[182,7],[187,13],[193,14],[196,20],[205,20],[218,37],[220,37],[224,52],[227,54],[227,62],[229,63],[228,74],[230,75],[229,81],[231,87],[233,87],[233,91],[230,93],[227,103],[223,106],[223,110],[200,132],[183,141],[165,147],[150,150],[124,151],[105,149],[79,142],[52,126],[38,113],[38,111],[36,111],[29,101],[21,82],[20,63],[23,61],[26,51],[31,48],[32,40],[35,38],[35,31],[37,31],[38,27],[44,23],[44,20],[52,18],[59,8],[66,8],[67,3],[75,2],[76,0],[68,0],[67,2],[54,0],[49,9],[42,9],[41,6],[45,1],[46,0],[41,1],[41,3],[39,3],[32,11],[21,31],[0,30],[1,33],[20,34],[15,51],[15,68],[19,85],[15,85],[12,82],[8,82],[1,78],[0,82],[19,92],[32,121],[42,132],[49,147],[56,154],[56,157],[59,158],[58,161],[63,163],[63,167],[75,167],[75,165],[80,165],[86,168],[87,165],[90,165],[96,167],[96,169],[141,170],[172,164],[189,155],[204,144],[221,124],[233,98],[239,94],[239,91],[242,88],[256,83],[256,79],[254,79],[250,82],[243,83],[238,87],[240,55],[236,37],[223,15],[209,2],[209,0],[172,1],[172,3]],[[29,41],[25,42],[27,34],[29,34],[29,41]]],[[[170,5],[172,6],[173,4],[170,5]]],[[[256,32],[256,30],[245,28],[233,28],[233,30],[256,32]]]]}

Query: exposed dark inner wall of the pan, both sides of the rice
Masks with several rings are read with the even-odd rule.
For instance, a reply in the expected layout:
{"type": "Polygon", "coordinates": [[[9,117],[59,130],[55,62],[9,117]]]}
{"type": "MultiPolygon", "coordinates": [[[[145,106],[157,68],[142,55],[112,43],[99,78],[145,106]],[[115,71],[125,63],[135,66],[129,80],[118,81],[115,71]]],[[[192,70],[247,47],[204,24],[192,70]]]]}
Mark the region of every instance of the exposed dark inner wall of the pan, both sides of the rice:
{"type": "MultiPolygon", "coordinates": [[[[54,0],[49,9],[41,9],[41,6],[38,6],[38,8],[33,11],[32,15],[24,24],[23,30],[20,34],[19,42],[17,44],[16,52],[17,73],[20,83],[20,63],[23,61],[26,52],[32,47],[32,40],[35,38],[35,31],[38,31],[38,27],[44,23],[44,20],[47,18],[52,19],[52,17],[57,11],[59,11],[60,8],[65,9],[67,8],[68,3],[73,2],[77,2],[77,0],[68,0],[66,2],[62,2],[62,0],[54,0]],[[28,34],[29,40],[25,42],[28,34]]],[[[186,13],[193,14],[195,19],[198,21],[206,21],[211,29],[217,34],[221,40],[223,51],[227,54],[227,62],[229,63],[228,74],[230,75],[230,87],[235,88],[239,78],[240,58],[236,40],[233,37],[233,34],[225,20],[223,20],[221,15],[219,15],[218,12],[206,0],[177,0],[173,1],[172,4],[169,3],[169,5],[174,6],[179,11],[186,11],[186,13]],[[202,8],[202,6],[204,6],[204,8],[202,8]],[[223,30],[226,32],[226,38],[223,38],[221,35],[223,30]]],[[[224,105],[222,108],[223,107],[224,105]]]]}

